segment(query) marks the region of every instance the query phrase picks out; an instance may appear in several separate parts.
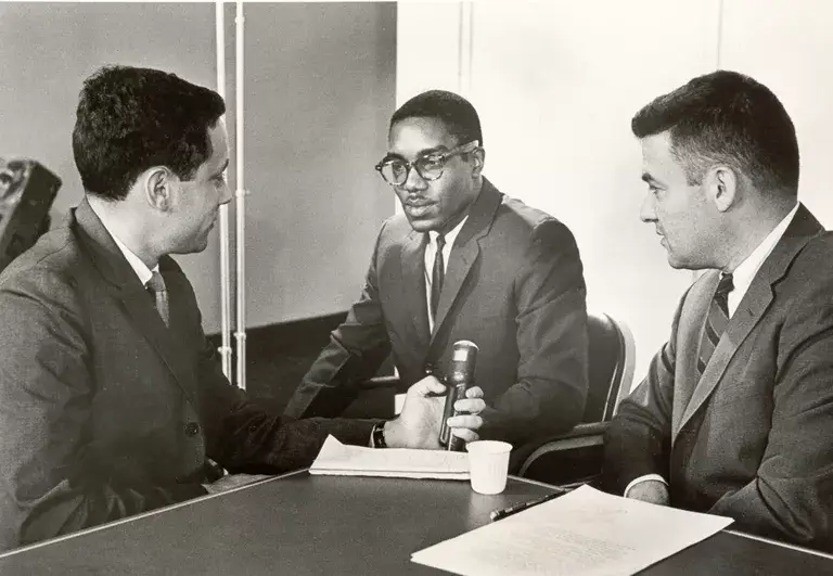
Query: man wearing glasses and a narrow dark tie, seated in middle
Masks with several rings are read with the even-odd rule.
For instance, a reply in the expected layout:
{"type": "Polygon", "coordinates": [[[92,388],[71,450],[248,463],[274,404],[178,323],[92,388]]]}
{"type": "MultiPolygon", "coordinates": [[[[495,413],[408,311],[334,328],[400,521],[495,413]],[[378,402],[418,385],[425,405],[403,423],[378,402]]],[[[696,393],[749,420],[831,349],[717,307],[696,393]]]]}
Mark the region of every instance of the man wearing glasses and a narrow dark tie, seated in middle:
{"type": "Polygon", "coordinates": [[[291,399],[293,417],[336,415],[393,351],[406,385],[441,375],[474,342],[485,438],[523,443],[579,422],[587,312],[573,234],[483,176],[476,111],[432,90],[390,118],[376,169],[401,215],[376,240],[364,287],[291,399]]]}

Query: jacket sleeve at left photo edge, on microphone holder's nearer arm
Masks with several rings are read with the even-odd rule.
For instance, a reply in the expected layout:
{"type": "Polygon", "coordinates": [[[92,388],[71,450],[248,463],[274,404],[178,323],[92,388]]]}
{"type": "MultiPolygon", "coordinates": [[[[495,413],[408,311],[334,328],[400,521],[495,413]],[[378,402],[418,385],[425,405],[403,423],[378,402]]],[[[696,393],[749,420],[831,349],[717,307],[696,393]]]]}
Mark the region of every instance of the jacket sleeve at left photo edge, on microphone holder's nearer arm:
{"type": "Polygon", "coordinates": [[[86,449],[94,386],[77,295],[36,274],[0,290],[0,549],[205,494],[99,473],[86,449]]]}

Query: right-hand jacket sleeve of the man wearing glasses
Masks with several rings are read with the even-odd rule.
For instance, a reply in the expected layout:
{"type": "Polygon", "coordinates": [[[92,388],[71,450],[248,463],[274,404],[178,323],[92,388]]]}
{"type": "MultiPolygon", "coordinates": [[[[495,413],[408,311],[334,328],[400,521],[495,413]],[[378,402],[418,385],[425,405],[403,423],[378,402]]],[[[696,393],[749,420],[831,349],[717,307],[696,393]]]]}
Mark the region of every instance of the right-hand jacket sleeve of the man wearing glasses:
{"type": "Polygon", "coordinates": [[[554,219],[531,232],[514,286],[517,382],[480,415],[480,436],[511,443],[556,434],[581,420],[587,397],[587,308],[572,232],[554,219]]]}

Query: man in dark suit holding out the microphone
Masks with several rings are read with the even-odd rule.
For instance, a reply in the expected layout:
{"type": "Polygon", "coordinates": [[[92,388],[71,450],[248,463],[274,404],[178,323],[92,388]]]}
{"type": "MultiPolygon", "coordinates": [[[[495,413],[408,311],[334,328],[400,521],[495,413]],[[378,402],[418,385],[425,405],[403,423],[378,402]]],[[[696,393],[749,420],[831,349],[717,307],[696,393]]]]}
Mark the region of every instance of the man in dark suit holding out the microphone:
{"type": "MultiPolygon", "coordinates": [[[[107,67],[85,82],[73,150],[86,197],[0,276],[0,550],[253,479],[217,479],[207,459],[287,471],[329,434],[439,447],[435,379],[390,422],[293,422],[220,372],[169,254],[205,249],[231,197],[223,112],[216,92],[159,71],[107,67]]],[[[480,394],[449,419],[464,440],[480,394]]]]}

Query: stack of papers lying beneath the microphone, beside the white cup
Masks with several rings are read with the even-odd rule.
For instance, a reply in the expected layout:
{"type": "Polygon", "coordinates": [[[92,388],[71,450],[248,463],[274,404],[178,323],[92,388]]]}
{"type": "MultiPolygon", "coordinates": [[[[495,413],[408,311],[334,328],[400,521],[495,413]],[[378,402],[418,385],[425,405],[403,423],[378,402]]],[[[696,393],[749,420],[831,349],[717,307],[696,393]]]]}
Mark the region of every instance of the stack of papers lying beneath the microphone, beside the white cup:
{"type": "Polygon", "coordinates": [[[347,446],[328,436],[310,474],[469,479],[469,455],[447,450],[376,450],[347,446]]]}

